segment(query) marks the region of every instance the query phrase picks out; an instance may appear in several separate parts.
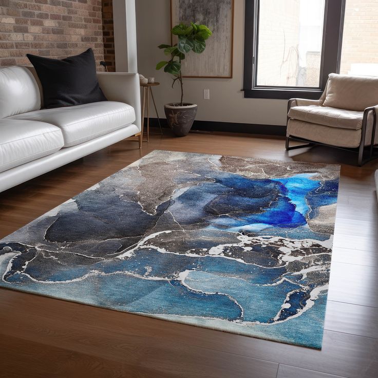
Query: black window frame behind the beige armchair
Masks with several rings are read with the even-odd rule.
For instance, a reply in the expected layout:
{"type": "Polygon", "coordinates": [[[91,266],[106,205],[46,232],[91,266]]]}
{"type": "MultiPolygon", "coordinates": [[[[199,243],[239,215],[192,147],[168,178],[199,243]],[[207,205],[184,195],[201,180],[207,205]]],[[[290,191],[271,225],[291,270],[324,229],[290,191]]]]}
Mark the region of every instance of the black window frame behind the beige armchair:
{"type": "Polygon", "coordinates": [[[319,87],[275,87],[255,85],[258,64],[258,7],[260,0],[245,0],[244,21],[244,77],[245,98],[317,100],[322,95],[328,75],[340,70],[346,0],[325,0],[322,60],[319,87]],[[255,64],[256,63],[256,64],[255,64]]]}

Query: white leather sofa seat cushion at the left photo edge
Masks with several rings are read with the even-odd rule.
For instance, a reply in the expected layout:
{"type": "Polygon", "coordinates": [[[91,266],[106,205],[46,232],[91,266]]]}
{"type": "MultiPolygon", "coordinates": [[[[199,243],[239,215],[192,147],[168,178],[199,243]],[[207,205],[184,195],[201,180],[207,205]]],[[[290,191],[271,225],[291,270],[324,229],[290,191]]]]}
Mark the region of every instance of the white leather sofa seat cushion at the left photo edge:
{"type": "Polygon", "coordinates": [[[53,154],[63,147],[59,127],[35,121],[0,120],[0,172],[53,154]]]}

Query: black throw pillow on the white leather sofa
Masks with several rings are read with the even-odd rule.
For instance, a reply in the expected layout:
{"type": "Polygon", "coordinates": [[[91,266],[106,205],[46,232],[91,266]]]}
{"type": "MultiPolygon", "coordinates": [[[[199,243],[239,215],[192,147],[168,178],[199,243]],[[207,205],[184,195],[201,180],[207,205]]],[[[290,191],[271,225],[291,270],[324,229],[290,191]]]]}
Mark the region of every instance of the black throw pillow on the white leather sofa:
{"type": "Polygon", "coordinates": [[[26,56],[41,81],[46,108],[106,101],[97,80],[92,49],[62,60],[26,56]]]}

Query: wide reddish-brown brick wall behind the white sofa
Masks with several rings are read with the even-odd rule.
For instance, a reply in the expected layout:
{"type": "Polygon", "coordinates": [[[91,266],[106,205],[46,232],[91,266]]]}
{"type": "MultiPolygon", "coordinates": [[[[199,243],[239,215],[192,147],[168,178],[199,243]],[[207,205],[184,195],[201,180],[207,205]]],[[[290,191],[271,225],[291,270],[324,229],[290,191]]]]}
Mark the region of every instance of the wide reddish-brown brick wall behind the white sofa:
{"type": "Polygon", "coordinates": [[[62,59],[91,47],[104,59],[101,0],[1,0],[0,66],[30,64],[26,53],[62,59]]]}

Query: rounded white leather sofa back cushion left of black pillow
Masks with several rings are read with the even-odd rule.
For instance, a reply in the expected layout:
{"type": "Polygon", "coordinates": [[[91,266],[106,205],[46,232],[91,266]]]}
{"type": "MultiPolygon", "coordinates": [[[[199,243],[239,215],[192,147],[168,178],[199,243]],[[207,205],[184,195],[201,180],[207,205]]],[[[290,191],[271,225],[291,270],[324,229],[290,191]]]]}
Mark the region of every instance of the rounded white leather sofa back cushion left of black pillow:
{"type": "Polygon", "coordinates": [[[41,93],[33,74],[25,67],[0,68],[0,118],[41,108],[41,93]]]}

